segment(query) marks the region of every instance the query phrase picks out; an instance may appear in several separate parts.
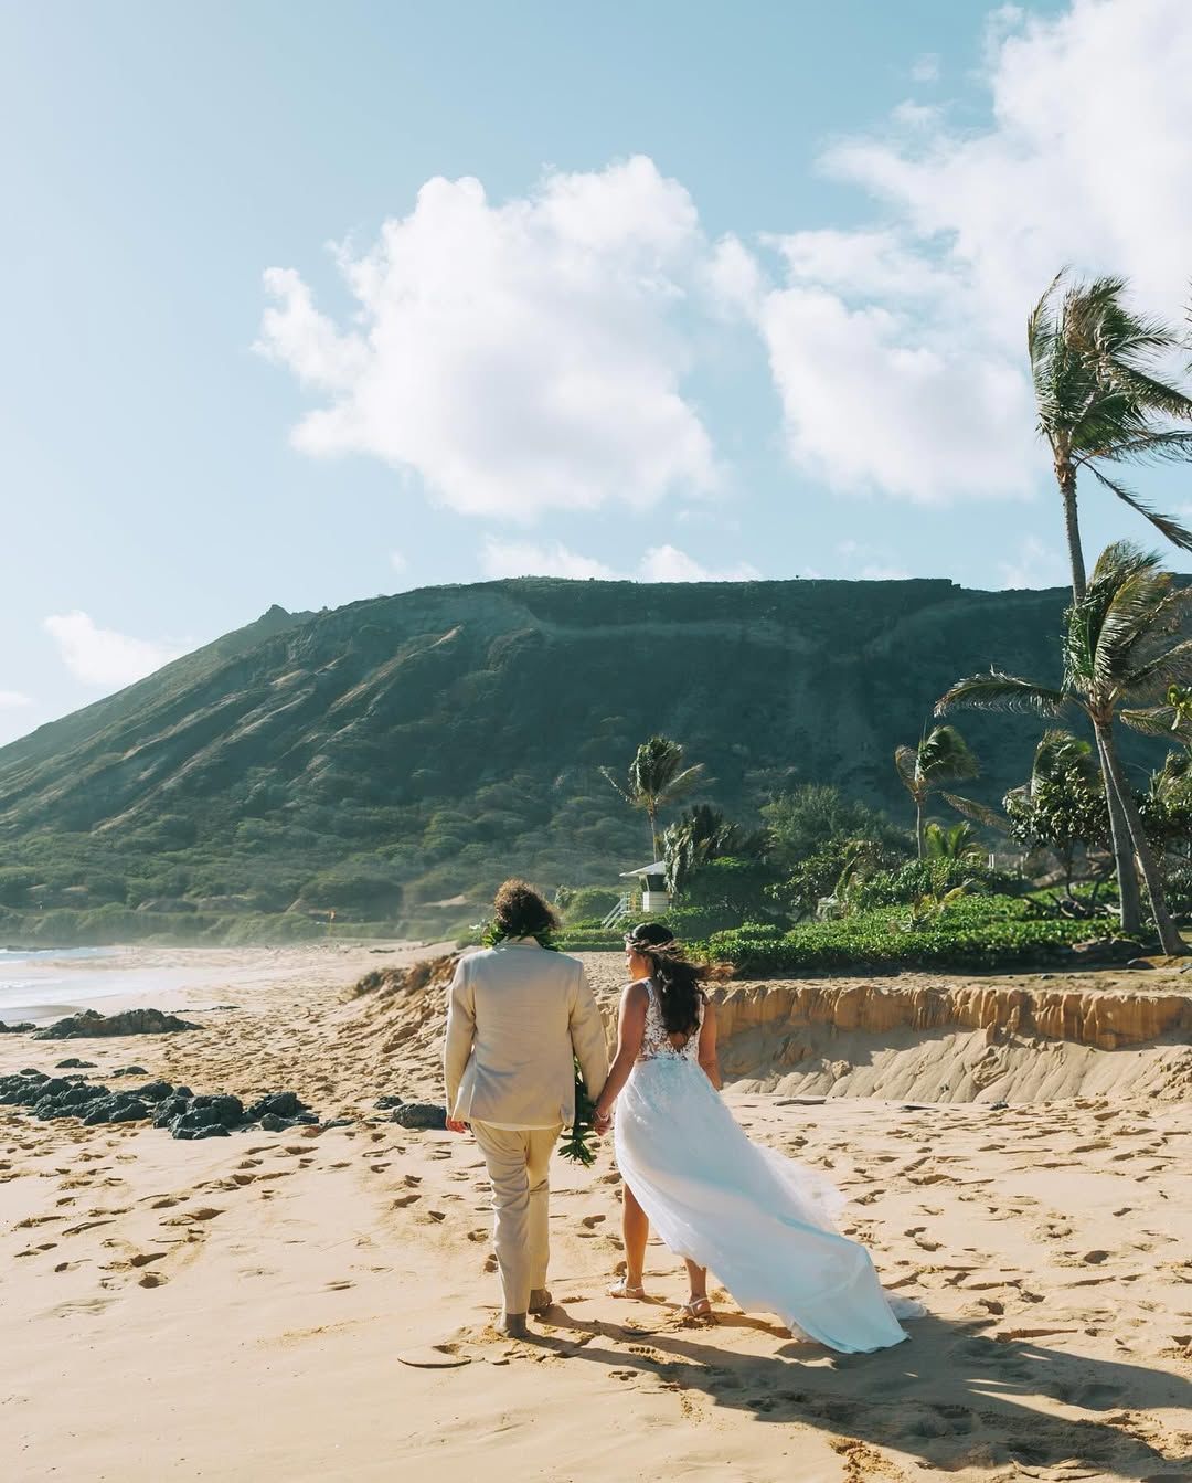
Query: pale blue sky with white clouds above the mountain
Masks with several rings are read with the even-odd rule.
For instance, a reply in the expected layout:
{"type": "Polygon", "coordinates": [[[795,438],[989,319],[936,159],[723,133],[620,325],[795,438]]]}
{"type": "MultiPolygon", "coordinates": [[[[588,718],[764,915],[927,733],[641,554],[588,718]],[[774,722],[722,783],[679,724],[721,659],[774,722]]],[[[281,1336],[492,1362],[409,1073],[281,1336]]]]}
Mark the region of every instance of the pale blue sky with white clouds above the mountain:
{"type": "Polygon", "coordinates": [[[274,602],[1062,584],[1024,319],[1183,323],[1189,77],[1186,0],[0,0],[0,743],[274,602]]]}

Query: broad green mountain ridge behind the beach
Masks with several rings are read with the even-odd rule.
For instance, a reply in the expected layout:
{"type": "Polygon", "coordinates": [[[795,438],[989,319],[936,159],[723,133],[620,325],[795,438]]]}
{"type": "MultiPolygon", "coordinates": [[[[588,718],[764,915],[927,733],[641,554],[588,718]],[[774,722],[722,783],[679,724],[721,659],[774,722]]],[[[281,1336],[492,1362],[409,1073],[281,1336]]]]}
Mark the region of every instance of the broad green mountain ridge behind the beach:
{"type": "MultiPolygon", "coordinates": [[[[743,822],[801,780],[909,822],[894,747],[959,675],[1057,678],[1066,601],[944,580],[526,578],[274,607],[0,749],[0,930],[71,909],[86,934],[101,908],[110,936],[130,914],[458,919],[514,871],[615,884],[649,836],[597,768],[654,731],[743,822]]],[[[971,792],[993,801],[1039,728],[959,724],[984,767],[971,792]]]]}

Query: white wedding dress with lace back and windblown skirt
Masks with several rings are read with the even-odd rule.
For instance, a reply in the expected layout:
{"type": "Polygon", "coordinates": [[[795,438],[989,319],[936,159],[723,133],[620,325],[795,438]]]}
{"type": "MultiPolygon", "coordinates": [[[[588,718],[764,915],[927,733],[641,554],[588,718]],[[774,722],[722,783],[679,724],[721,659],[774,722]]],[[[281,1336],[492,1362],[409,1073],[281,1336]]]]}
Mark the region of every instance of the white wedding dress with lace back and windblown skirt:
{"type": "MultiPolygon", "coordinates": [[[[648,983],[642,1050],[617,1099],[626,1183],[676,1256],[710,1268],[747,1312],[845,1354],[907,1335],[869,1252],[841,1235],[844,1197],[814,1170],[750,1142],[698,1062],[698,1034],[672,1046],[648,983]]],[[[703,1016],[703,1010],[701,1010],[703,1016]]],[[[901,1302],[904,1317],[921,1305],[901,1302]]]]}

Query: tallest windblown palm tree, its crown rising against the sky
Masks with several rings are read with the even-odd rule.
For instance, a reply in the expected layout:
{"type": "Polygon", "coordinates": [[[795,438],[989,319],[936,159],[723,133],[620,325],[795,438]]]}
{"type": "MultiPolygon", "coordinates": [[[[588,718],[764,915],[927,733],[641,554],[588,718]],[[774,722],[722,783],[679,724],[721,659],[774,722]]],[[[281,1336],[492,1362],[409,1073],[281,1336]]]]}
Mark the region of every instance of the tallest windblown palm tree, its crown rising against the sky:
{"type": "MultiPolygon", "coordinates": [[[[1192,550],[1192,534],[1159,515],[1116,476],[1119,464],[1143,464],[1192,457],[1192,432],[1173,423],[1192,420],[1192,399],[1165,378],[1164,362],[1183,349],[1182,337],[1159,320],[1124,304],[1127,282],[1100,277],[1072,283],[1059,273],[1026,326],[1035,383],[1038,430],[1051,449],[1051,464],[1063,500],[1072,596],[1085,593],[1084,550],[1076,515],[1076,476],[1087,469],[1106,489],[1146,516],[1167,540],[1192,550]],[[1106,472],[1112,467],[1113,475],[1106,472]]],[[[1100,742],[1097,743],[1100,753],[1100,742]]],[[[1106,779],[1109,830],[1118,873],[1122,927],[1142,921],[1139,881],[1130,853],[1130,830],[1110,767],[1106,779]]]]}

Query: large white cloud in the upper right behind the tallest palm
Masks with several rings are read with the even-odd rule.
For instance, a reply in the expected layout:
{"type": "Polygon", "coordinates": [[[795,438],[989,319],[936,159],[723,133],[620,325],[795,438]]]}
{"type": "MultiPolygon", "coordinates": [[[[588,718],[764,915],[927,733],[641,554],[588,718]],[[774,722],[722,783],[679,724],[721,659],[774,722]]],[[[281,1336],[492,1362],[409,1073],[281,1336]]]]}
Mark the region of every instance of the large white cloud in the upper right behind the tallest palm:
{"type": "Polygon", "coordinates": [[[835,144],[824,171],[876,222],[769,239],[786,280],[756,311],[796,466],[922,503],[1038,486],[1024,322],[1054,273],[1121,271],[1143,307],[1182,314],[1191,76],[1186,0],[1005,6],[983,131],[915,105],[835,144]]]}

